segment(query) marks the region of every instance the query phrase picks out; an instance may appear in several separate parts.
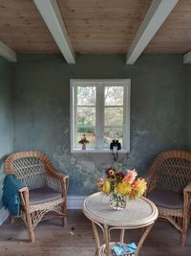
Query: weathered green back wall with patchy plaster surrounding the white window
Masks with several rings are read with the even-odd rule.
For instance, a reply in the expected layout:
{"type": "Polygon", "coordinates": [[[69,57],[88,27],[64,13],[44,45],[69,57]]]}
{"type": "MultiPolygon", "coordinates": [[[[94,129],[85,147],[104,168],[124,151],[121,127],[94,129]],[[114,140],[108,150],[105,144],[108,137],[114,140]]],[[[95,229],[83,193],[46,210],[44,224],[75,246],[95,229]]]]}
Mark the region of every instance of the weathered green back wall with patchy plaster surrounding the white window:
{"type": "Polygon", "coordinates": [[[181,56],[19,55],[13,79],[14,151],[48,153],[70,175],[70,194],[88,195],[110,154],[70,152],[70,79],[132,79],[131,152],[119,158],[142,175],[160,151],[184,149],[186,78],[181,56]]]}

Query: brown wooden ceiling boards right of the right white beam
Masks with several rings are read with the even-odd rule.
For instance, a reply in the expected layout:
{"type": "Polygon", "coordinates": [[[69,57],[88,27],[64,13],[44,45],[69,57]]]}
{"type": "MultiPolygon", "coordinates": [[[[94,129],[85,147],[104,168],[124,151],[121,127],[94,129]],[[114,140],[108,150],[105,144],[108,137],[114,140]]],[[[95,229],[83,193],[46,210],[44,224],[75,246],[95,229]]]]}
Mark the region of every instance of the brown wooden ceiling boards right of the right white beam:
{"type": "Polygon", "coordinates": [[[191,50],[191,1],[180,0],[145,49],[149,54],[185,54],[191,50]]]}

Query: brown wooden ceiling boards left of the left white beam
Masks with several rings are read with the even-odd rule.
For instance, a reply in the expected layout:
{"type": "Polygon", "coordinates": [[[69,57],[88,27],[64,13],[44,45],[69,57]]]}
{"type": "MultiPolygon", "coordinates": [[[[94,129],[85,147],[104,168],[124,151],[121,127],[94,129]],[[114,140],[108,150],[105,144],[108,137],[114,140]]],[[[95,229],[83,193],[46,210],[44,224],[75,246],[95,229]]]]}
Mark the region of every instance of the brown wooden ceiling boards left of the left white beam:
{"type": "Polygon", "coordinates": [[[0,40],[16,52],[59,52],[32,0],[0,0],[0,40]]]}

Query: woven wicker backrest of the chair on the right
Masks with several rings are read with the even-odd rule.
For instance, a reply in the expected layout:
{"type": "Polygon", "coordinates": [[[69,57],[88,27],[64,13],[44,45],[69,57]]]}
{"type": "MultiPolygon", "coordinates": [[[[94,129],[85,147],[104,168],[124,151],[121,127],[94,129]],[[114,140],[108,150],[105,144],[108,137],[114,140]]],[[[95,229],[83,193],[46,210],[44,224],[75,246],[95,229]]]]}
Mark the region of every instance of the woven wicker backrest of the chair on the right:
{"type": "Polygon", "coordinates": [[[153,167],[159,188],[182,192],[191,181],[191,152],[161,152],[154,161],[153,167]]]}

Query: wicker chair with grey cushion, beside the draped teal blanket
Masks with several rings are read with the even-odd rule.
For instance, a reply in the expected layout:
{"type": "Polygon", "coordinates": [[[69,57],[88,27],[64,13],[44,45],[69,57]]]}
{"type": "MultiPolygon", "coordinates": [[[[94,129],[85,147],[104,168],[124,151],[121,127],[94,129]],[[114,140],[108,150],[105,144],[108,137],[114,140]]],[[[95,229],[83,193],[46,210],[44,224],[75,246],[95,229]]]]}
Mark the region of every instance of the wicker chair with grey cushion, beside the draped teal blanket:
{"type": "Polygon", "coordinates": [[[27,185],[19,190],[20,217],[30,231],[32,242],[35,240],[33,229],[39,221],[61,217],[64,225],[69,176],[59,174],[46,154],[40,151],[12,153],[5,161],[5,172],[27,185]]]}

